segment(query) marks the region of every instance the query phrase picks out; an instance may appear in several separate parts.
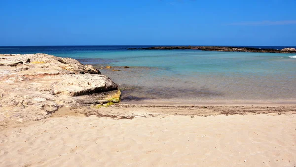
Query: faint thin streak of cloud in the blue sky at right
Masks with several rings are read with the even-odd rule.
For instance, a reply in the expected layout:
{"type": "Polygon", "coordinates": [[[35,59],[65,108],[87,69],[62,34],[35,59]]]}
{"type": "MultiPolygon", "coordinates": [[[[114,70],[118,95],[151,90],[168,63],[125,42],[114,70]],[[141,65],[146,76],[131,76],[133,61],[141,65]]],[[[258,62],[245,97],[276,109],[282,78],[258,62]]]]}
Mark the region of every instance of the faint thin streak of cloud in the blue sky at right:
{"type": "Polygon", "coordinates": [[[229,24],[226,24],[226,25],[235,25],[235,26],[272,26],[272,25],[293,25],[293,24],[296,24],[296,20],[237,22],[237,23],[229,23],[229,24]]]}

